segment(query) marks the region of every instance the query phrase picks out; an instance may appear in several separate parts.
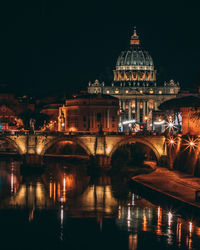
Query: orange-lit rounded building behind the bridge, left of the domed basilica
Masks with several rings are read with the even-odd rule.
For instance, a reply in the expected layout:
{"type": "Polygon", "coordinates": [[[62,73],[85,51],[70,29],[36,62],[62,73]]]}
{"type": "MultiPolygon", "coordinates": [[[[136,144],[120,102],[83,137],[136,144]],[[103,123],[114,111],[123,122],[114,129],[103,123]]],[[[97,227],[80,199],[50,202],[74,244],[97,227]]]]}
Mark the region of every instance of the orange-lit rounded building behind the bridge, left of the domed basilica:
{"type": "Polygon", "coordinates": [[[66,100],[59,108],[59,131],[118,131],[119,101],[103,94],[86,94],[66,100]]]}

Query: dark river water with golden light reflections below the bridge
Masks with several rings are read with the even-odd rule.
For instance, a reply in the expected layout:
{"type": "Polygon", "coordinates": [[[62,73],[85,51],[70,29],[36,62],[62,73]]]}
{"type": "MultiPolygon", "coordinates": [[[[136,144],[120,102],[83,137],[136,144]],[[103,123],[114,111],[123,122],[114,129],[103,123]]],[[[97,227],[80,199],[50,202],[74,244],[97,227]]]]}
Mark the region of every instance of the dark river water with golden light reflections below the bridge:
{"type": "MultiPolygon", "coordinates": [[[[122,176],[49,159],[41,176],[0,159],[1,249],[200,249],[200,223],[143,198],[122,176]]],[[[149,199],[151,200],[151,199],[149,199]]]]}

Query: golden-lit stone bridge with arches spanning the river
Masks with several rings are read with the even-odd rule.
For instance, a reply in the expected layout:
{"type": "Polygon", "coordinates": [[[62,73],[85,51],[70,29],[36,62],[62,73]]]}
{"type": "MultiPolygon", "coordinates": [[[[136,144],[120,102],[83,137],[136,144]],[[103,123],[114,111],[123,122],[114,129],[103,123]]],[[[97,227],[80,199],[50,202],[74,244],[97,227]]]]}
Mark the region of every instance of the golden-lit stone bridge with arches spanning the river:
{"type": "Polygon", "coordinates": [[[60,141],[69,141],[81,146],[89,156],[104,156],[111,159],[121,145],[139,142],[153,150],[157,161],[167,156],[165,137],[142,134],[84,134],[84,133],[15,133],[1,134],[0,140],[11,143],[19,154],[45,155],[47,149],[60,141]]]}

